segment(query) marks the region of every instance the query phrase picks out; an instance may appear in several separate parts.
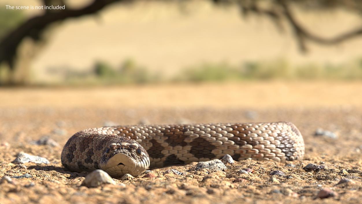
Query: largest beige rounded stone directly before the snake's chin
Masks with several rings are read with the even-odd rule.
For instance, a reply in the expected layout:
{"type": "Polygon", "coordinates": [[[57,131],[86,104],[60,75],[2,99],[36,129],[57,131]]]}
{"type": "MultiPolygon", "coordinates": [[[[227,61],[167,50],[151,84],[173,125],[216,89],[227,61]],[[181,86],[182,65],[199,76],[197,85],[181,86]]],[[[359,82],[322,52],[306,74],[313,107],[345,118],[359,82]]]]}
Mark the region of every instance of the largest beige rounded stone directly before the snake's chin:
{"type": "Polygon", "coordinates": [[[109,183],[115,185],[114,180],[103,170],[97,169],[90,172],[83,180],[81,186],[98,187],[102,184],[109,183]]]}

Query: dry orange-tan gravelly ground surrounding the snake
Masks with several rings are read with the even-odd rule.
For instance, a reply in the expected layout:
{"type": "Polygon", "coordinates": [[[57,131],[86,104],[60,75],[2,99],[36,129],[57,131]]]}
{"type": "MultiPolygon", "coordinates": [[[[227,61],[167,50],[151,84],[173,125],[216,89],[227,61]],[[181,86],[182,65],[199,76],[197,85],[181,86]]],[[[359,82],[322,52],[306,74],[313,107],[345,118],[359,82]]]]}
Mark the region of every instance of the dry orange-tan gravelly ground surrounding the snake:
{"type": "MultiPolygon", "coordinates": [[[[326,89],[326,92],[332,96],[328,97],[336,97],[336,101],[341,101],[341,95],[338,94],[345,93],[334,92],[333,86],[330,87],[332,90],[326,89]]],[[[253,85],[248,86],[248,89],[253,88],[255,89],[253,85]]],[[[133,94],[140,91],[133,89],[133,94]]],[[[64,90],[43,91],[48,95],[41,95],[42,90],[38,90],[37,94],[43,100],[37,106],[35,99],[29,94],[34,93],[33,90],[13,90],[13,97],[4,97],[12,90],[0,90],[1,99],[6,100],[0,102],[0,179],[9,176],[12,180],[7,182],[4,179],[0,182],[1,204],[362,203],[362,109],[349,105],[349,98],[345,99],[346,105],[338,104],[334,107],[330,105],[333,101],[329,101],[329,105],[326,102],[324,107],[323,104],[316,107],[295,107],[294,103],[297,102],[292,99],[289,99],[291,105],[257,107],[243,105],[242,98],[239,107],[122,106],[122,101],[114,107],[103,106],[101,103],[82,107],[74,103],[67,104],[67,100],[63,100],[63,104],[54,100],[64,90]],[[49,97],[49,103],[46,103],[46,97],[49,97]],[[34,104],[26,105],[29,103],[34,104]],[[246,160],[226,165],[225,171],[188,171],[196,164],[194,162],[186,166],[153,169],[152,178],[143,178],[143,174],[132,180],[113,179],[115,185],[103,184],[95,188],[81,186],[88,172],[72,172],[60,163],[60,153],[68,138],[89,127],[139,122],[171,124],[263,121],[293,122],[304,136],[304,159],[282,163],[246,160]],[[319,128],[329,133],[317,131],[319,128]],[[315,136],[316,132],[321,132],[321,135],[315,136]],[[59,146],[52,146],[52,143],[38,145],[34,142],[45,136],[59,146]],[[21,151],[45,157],[50,163],[12,163],[21,151]],[[303,167],[309,163],[323,165],[324,169],[304,170],[303,167]],[[180,171],[183,175],[164,174],[168,169],[180,171]],[[274,171],[278,173],[271,175],[274,171]],[[325,188],[327,192],[320,192],[325,188]],[[330,197],[319,198],[323,193],[330,197]]],[[[79,89],[74,90],[77,91],[81,92],[79,89]]],[[[72,93],[72,90],[68,92],[72,93]]],[[[115,88],[111,92],[116,92],[115,88]]],[[[119,92],[122,93],[121,90],[119,92]]],[[[162,91],[159,90],[158,100],[161,103],[166,103],[164,100],[173,102],[172,96],[167,98],[160,92],[162,91]]],[[[106,93],[107,89],[103,91],[103,94],[106,93]]],[[[298,93],[303,95],[301,91],[298,93]]],[[[74,98],[70,100],[76,101],[76,95],[73,94],[74,98]]],[[[307,93],[304,96],[307,97],[307,93]]],[[[286,96],[281,93],[281,97],[279,100],[286,96]]],[[[352,98],[360,96],[350,97],[352,101],[352,98]]],[[[79,100],[89,99],[79,96],[79,100]]]]}

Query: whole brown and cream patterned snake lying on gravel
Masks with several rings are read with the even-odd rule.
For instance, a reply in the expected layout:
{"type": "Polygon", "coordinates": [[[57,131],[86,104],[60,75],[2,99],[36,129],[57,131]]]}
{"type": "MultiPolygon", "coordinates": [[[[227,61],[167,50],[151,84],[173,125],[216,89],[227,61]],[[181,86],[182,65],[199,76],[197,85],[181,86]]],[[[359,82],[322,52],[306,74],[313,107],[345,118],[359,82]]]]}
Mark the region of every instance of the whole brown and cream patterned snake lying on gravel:
{"type": "Polygon", "coordinates": [[[70,137],[61,162],[71,171],[101,169],[120,177],[227,154],[236,161],[300,160],[304,140],[291,122],[104,126],[70,137]]]}

